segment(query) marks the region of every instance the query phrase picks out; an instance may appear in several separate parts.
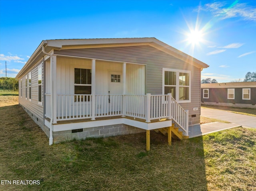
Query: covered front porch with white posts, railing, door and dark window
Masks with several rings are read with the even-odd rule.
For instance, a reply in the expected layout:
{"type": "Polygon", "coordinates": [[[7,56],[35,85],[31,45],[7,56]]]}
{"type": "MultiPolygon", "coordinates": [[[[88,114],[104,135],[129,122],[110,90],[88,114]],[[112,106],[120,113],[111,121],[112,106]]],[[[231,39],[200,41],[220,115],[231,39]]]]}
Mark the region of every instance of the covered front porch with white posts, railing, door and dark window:
{"type": "Polygon", "coordinates": [[[188,111],[171,94],[145,92],[145,65],[53,55],[44,70],[45,125],[53,132],[105,122],[148,131],[175,122],[188,136],[188,111]]]}

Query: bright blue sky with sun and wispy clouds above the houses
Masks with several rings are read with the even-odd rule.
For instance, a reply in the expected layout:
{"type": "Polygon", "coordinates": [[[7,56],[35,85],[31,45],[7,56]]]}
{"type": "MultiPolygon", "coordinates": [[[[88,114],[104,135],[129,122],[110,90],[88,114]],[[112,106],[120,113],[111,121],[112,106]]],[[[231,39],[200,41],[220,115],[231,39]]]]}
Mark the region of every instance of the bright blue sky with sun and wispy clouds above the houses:
{"type": "Polygon", "coordinates": [[[0,0],[0,77],[42,40],[156,37],[210,65],[202,79],[256,71],[255,0],[0,0]]]}

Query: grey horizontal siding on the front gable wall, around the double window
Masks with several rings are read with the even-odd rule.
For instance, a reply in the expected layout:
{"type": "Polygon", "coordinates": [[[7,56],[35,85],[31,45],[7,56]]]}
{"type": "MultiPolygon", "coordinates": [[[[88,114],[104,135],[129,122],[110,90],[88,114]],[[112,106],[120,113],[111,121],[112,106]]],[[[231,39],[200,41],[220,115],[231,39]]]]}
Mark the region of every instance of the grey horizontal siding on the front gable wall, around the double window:
{"type": "Polygon", "coordinates": [[[162,94],[162,68],[191,71],[191,102],[181,103],[189,110],[190,124],[200,118],[200,69],[150,46],[54,50],[57,55],[71,55],[146,65],[146,93],[162,94]],[[194,111],[193,108],[198,108],[194,111]],[[192,115],[195,116],[192,118],[192,115]]]}

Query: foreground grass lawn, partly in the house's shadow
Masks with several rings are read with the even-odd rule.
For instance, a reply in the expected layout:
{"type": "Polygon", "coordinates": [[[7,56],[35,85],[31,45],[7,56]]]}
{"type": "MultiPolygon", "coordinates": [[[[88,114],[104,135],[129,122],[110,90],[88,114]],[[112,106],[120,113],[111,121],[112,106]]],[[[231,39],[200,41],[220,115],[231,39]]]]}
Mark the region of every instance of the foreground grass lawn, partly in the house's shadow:
{"type": "Polygon", "coordinates": [[[24,191],[253,191],[256,129],[234,128],[167,144],[146,134],[73,140],[48,138],[19,105],[0,107],[0,179],[40,185],[1,185],[24,191]]]}

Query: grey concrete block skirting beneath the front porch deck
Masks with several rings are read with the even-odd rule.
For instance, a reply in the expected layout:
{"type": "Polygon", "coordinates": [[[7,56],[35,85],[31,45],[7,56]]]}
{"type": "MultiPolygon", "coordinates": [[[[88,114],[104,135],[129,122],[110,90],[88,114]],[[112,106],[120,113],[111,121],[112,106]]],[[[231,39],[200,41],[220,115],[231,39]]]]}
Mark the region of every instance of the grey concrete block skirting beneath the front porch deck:
{"type": "Polygon", "coordinates": [[[144,129],[125,124],[115,124],[92,128],[83,128],[81,132],[72,133],[72,130],[53,132],[53,142],[59,143],[66,140],[84,140],[86,138],[106,138],[118,135],[136,134],[146,132],[144,129]]]}

